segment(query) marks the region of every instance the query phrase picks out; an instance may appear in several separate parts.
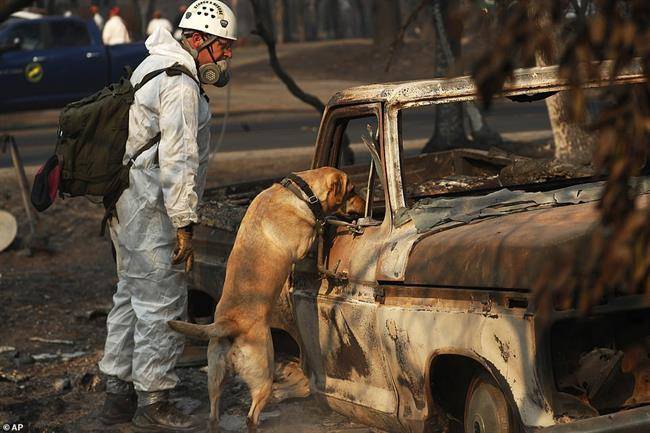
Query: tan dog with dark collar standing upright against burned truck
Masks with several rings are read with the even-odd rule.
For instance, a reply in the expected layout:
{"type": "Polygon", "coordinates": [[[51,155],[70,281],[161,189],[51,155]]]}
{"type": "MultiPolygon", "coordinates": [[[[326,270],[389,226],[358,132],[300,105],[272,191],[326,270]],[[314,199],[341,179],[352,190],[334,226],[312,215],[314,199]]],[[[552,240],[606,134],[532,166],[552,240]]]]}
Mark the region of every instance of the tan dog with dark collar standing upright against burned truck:
{"type": "MultiPolygon", "coordinates": [[[[363,214],[365,202],[344,172],[324,167],[297,174],[318,197],[325,215],[363,214]]],[[[214,323],[169,322],[180,333],[210,340],[211,429],[218,428],[222,382],[226,368],[232,367],[250,389],[252,404],[246,421],[249,432],[256,431],[273,385],[272,309],[292,265],[311,249],[315,225],[307,203],[289,189],[275,184],[262,191],[237,232],[214,323]]]]}

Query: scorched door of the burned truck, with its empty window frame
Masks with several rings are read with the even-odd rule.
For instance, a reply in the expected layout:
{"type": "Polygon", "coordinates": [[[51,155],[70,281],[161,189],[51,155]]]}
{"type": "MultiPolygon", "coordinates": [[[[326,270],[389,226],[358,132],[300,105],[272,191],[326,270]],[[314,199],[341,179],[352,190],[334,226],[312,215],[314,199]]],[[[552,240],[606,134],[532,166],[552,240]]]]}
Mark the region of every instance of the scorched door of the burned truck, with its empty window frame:
{"type": "MultiPolygon", "coordinates": [[[[379,104],[330,113],[334,127],[329,165],[347,172],[362,194],[370,188],[371,206],[364,227],[327,228],[319,261],[321,271],[330,277],[322,280],[317,293],[297,294],[296,320],[320,392],[350,405],[394,414],[397,397],[378,337],[374,281],[377,253],[387,226],[382,223],[384,193],[382,180],[370,175],[370,152],[361,139],[367,134],[367,125],[371,125],[372,134],[381,130],[380,113],[379,104]],[[346,157],[346,137],[354,154],[353,164],[346,157]]],[[[375,145],[380,152],[380,144],[375,145]]]]}

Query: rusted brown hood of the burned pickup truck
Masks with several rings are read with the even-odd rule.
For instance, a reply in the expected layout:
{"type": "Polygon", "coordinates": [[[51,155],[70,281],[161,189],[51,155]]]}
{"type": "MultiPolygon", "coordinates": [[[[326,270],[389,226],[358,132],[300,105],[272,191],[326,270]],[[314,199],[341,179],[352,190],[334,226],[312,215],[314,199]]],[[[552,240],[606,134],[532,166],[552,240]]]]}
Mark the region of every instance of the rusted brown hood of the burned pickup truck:
{"type": "MultiPolygon", "coordinates": [[[[639,205],[647,208],[648,198],[641,195],[639,205]]],[[[580,259],[577,253],[588,248],[599,218],[595,200],[491,213],[487,219],[451,221],[451,228],[447,220],[429,231],[419,229],[404,283],[529,291],[547,272],[550,258],[580,259]]]]}

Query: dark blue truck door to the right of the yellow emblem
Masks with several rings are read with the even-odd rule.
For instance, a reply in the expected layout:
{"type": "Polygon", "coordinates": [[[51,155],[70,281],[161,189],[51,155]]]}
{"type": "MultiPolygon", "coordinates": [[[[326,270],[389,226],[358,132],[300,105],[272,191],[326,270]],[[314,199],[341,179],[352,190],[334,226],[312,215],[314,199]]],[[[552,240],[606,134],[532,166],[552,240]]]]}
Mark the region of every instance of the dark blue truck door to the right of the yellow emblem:
{"type": "Polygon", "coordinates": [[[88,96],[108,84],[108,58],[93,41],[85,22],[62,19],[48,22],[50,54],[44,60],[48,79],[57,83],[57,97],[66,103],[88,96]]]}

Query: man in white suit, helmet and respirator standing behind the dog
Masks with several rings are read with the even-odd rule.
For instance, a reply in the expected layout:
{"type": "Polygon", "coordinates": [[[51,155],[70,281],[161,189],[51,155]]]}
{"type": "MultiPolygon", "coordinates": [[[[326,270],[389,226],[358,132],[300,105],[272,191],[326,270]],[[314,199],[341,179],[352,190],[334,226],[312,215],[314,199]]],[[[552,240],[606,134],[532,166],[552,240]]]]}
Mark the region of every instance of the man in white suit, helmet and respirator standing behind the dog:
{"type": "Polygon", "coordinates": [[[210,151],[210,106],[195,79],[227,83],[237,22],[224,3],[197,0],[180,27],[180,43],[162,28],[147,38],[149,56],[131,78],[136,85],[147,73],[176,64],[193,76],[156,76],[135,93],[129,111],[125,164],[159,133],[160,140],[134,161],[117,218],[110,221],[119,281],[99,362],[107,376],[100,419],[131,420],[138,429],[161,432],[195,429],[192,418],[168,400],[184,340],[167,321],[186,317],[192,224],[210,151]]]}

